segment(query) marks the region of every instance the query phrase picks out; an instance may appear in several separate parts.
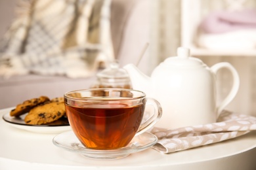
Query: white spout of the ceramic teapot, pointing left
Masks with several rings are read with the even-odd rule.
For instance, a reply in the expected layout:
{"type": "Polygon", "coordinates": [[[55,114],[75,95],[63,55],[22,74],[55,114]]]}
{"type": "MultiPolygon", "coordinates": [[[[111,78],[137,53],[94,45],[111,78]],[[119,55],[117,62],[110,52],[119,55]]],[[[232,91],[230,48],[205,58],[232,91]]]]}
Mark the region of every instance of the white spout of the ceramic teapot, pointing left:
{"type": "Polygon", "coordinates": [[[148,96],[150,93],[151,78],[142,73],[134,64],[129,63],[123,67],[130,76],[134,90],[140,90],[148,96]]]}

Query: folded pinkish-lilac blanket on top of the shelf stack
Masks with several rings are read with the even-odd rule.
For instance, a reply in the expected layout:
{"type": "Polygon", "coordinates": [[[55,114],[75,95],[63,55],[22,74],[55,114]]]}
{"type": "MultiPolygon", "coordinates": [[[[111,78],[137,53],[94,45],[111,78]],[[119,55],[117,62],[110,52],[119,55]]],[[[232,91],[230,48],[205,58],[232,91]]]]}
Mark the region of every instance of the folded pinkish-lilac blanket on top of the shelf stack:
{"type": "Polygon", "coordinates": [[[256,28],[256,9],[213,12],[200,24],[200,30],[204,33],[226,33],[250,28],[256,28]]]}

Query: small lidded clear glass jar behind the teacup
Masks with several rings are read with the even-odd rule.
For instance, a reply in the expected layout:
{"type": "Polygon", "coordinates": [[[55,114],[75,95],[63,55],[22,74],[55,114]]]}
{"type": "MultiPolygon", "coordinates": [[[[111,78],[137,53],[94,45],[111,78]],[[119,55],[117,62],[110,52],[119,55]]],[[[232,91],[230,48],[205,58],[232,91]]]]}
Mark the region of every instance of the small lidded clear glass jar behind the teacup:
{"type": "Polygon", "coordinates": [[[110,63],[109,68],[97,73],[96,78],[96,82],[91,88],[132,88],[127,71],[120,68],[117,61],[110,63]]]}

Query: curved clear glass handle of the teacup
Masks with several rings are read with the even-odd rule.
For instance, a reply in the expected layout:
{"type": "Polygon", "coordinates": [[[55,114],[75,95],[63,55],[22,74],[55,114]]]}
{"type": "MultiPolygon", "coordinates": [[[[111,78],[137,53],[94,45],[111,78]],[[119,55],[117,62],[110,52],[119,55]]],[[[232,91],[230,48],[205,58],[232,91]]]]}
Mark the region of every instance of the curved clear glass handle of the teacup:
{"type": "MultiPolygon", "coordinates": [[[[161,114],[162,114],[161,105],[156,99],[147,97],[146,106],[147,105],[152,105],[154,107],[154,114],[150,115],[150,117],[145,122],[140,124],[140,127],[135,136],[140,135],[145,131],[147,131],[148,129],[150,129],[151,127],[153,127],[161,118],[161,114]]],[[[144,116],[145,116],[145,113],[144,113],[144,116]]]]}

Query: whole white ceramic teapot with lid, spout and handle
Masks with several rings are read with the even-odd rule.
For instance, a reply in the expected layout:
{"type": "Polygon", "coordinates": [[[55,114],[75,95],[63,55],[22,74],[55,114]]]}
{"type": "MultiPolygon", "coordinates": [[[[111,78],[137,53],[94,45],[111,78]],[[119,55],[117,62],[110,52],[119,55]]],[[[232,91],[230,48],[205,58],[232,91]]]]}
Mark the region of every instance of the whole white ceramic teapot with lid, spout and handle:
{"type": "Polygon", "coordinates": [[[131,78],[133,89],[160,102],[163,115],[156,127],[178,128],[216,122],[238,92],[240,78],[236,69],[226,62],[209,68],[200,59],[190,57],[188,48],[178,48],[177,54],[160,63],[151,78],[133,64],[123,68],[131,78]],[[216,75],[223,68],[232,73],[233,84],[223,102],[217,105],[216,75]]]}

